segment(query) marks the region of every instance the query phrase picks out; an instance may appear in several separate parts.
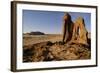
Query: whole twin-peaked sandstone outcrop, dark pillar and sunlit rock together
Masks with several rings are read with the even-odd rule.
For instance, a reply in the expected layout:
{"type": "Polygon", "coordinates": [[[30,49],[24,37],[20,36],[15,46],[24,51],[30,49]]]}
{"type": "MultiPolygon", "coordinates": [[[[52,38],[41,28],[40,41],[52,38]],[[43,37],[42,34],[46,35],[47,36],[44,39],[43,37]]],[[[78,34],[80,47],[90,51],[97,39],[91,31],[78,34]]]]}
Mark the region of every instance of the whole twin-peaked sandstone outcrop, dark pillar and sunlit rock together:
{"type": "Polygon", "coordinates": [[[88,32],[85,27],[85,21],[82,17],[78,17],[75,22],[72,22],[71,16],[65,13],[63,24],[63,42],[74,42],[88,45],[88,32]],[[65,41],[64,41],[65,39],[65,41]]]}

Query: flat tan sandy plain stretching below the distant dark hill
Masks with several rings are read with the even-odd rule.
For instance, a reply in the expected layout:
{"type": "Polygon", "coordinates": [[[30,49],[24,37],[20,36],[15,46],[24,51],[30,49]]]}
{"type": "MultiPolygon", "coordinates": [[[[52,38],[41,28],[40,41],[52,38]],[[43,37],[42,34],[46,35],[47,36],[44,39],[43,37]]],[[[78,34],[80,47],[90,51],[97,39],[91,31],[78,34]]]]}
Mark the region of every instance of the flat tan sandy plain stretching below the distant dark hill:
{"type": "Polygon", "coordinates": [[[62,35],[61,34],[45,34],[45,35],[29,35],[24,34],[23,35],[23,45],[32,45],[37,44],[41,42],[47,42],[50,41],[52,43],[62,41],[62,35]]]}

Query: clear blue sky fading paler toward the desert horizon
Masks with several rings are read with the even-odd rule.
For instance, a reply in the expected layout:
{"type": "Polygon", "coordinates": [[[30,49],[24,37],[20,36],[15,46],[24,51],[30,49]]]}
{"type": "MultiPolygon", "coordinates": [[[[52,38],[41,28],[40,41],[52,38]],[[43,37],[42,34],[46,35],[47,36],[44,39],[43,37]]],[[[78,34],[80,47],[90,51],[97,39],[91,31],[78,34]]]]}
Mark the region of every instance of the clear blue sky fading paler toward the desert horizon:
{"type": "MultiPolygon", "coordinates": [[[[40,31],[45,34],[61,34],[65,12],[23,10],[23,33],[40,31]]],[[[85,20],[86,29],[91,31],[91,13],[68,12],[72,21],[81,16],[85,20]]]]}

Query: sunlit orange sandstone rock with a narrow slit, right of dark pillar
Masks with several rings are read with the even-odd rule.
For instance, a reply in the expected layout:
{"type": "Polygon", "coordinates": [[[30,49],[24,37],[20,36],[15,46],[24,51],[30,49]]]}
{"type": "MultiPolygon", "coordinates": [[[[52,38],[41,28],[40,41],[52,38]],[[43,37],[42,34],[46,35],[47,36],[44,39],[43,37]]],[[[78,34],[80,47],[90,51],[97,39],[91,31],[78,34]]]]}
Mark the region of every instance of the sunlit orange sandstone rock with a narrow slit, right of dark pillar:
{"type": "Polygon", "coordinates": [[[85,28],[84,19],[82,17],[78,17],[76,21],[74,22],[74,28],[73,28],[73,36],[72,40],[77,43],[85,44],[87,45],[87,36],[88,32],[85,28]]]}

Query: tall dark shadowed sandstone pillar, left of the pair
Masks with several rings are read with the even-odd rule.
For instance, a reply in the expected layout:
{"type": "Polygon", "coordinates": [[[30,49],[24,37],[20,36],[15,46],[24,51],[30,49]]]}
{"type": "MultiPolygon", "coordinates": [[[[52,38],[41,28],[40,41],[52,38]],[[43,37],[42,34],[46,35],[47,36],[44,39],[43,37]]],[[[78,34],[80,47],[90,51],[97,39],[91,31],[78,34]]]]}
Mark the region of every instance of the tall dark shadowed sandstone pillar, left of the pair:
{"type": "Polygon", "coordinates": [[[63,42],[68,42],[72,38],[73,22],[69,13],[63,16],[63,42]]]}

